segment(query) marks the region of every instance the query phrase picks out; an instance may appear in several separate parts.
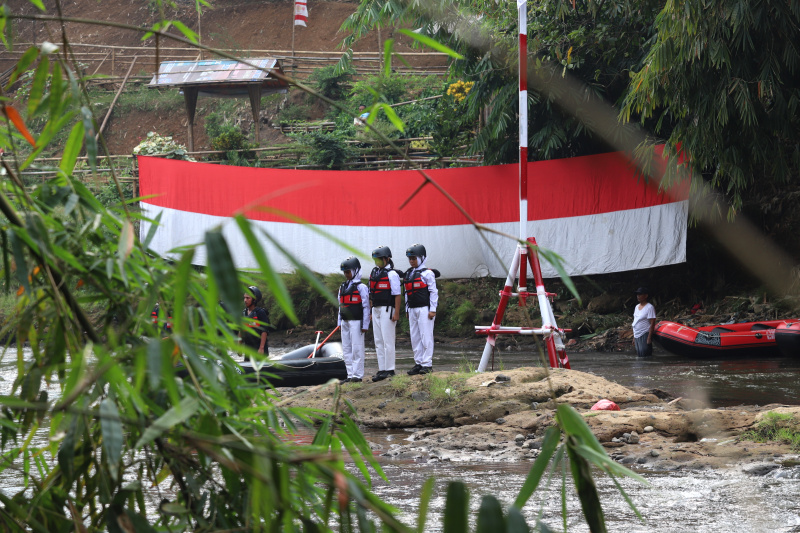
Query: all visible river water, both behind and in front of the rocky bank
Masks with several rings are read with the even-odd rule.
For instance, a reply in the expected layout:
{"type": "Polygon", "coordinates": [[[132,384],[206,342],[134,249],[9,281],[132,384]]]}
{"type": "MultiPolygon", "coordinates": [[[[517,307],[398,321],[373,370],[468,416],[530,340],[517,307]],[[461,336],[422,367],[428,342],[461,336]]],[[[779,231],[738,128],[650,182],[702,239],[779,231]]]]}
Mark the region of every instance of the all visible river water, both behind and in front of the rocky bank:
{"type": "MultiPolygon", "coordinates": [[[[437,349],[434,370],[464,369],[477,366],[479,353],[437,349]]],[[[7,352],[0,361],[0,395],[8,394],[16,375],[16,354],[7,352]]],[[[800,361],[784,358],[738,359],[735,361],[697,361],[668,354],[640,360],[632,354],[570,354],[572,368],[591,372],[625,386],[658,388],[675,396],[691,397],[712,407],[739,404],[787,403],[800,405],[800,361]]],[[[504,352],[495,356],[494,368],[531,366],[532,355],[504,352]]],[[[399,352],[398,371],[413,366],[410,353],[399,352]]],[[[367,354],[367,376],[377,370],[375,355],[367,354]]],[[[58,394],[51,387],[51,399],[58,394]]],[[[43,445],[46,433],[40,432],[43,445]]],[[[405,431],[369,430],[369,440],[387,448],[408,438],[405,431]]],[[[428,459],[416,461],[379,457],[389,479],[375,476],[374,490],[396,506],[406,523],[414,523],[422,483],[437,479],[430,505],[426,531],[441,531],[446,484],[464,481],[471,491],[471,507],[477,509],[481,496],[492,494],[504,504],[513,502],[530,468],[530,462],[487,463],[481,461],[448,463],[428,459]]],[[[626,492],[638,507],[640,521],[619,495],[614,485],[598,478],[601,501],[610,531],[625,532],[798,532],[800,533],[800,468],[786,467],[767,476],[754,477],[739,468],[681,472],[640,472],[648,485],[622,480],[626,492]]],[[[11,471],[0,479],[0,490],[10,494],[19,490],[22,480],[11,471]]],[[[567,490],[568,528],[588,531],[574,491],[567,490]]],[[[541,516],[554,530],[561,530],[560,478],[538,491],[523,510],[529,524],[541,516]]],[[[473,516],[475,513],[472,513],[473,516]]]]}

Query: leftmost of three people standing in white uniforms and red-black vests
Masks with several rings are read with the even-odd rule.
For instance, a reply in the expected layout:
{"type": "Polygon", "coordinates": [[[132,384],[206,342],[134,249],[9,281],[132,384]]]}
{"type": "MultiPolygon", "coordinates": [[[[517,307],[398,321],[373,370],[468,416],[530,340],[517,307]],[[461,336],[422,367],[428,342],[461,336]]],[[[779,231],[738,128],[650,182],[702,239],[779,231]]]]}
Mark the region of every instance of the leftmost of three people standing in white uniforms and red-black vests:
{"type": "Polygon", "coordinates": [[[364,334],[369,329],[369,290],[361,283],[361,262],[350,256],[340,266],[345,282],[339,287],[338,325],[342,328],[342,356],[347,378],[341,383],[358,383],[364,378],[364,334]]]}

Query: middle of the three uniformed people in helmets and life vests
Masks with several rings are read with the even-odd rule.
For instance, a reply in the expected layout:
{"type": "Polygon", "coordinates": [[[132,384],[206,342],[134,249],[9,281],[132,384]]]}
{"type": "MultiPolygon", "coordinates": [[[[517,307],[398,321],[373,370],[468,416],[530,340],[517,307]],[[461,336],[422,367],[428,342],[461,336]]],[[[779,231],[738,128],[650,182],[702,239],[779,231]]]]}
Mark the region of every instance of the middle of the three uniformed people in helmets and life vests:
{"type": "Polygon", "coordinates": [[[372,259],[375,268],[369,275],[369,303],[378,356],[378,373],[372,376],[372,381],[381,381],[394,376],[394,344],[400,319],[400,275],[394,269],[392,251],[388,246],[375,248],[372,259]]]}

